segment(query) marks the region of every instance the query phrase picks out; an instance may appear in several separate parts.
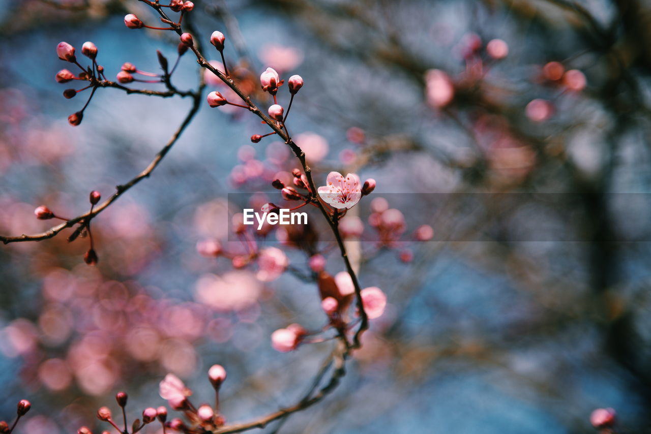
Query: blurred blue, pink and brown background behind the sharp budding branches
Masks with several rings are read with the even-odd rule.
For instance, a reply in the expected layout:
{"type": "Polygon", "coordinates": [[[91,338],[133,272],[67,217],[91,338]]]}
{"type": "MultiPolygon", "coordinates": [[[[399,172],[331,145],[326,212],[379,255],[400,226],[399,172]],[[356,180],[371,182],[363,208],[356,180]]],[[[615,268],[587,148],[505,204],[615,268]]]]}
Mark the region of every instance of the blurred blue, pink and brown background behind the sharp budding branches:
{"type": "MultiPolygon", "coordinates": [[[[68,125],[88,91],[62,97],[74,83],[54,79],[70,68],[60,41],[78,59],[94,42],[109,79],[124,62],[158,72],[157,49],[176,59],[176,35],[127,29],[130,12],[156,25],[135,0],[1,8],[0,234],[49,228],[33,216],[41,204],[87,211],[90,190],[109,197],[186,116],[188,98],[102,88],[68,125]]],[[[227,34],[243,81],[268,66],[305,79],[288,126],[317,185],[330,170],[378,183],[353,208],[365,228],[351,248],[362,286],[389,306],[340,387],[281,432],[590,433],[596,407],[614,407],[622,433],[649,432],[647,1],[197,0],[187,17],[214,60],[210,33],[227,34]],[[378,197],[386,204],[372,210],[378,197]],[[368,217],[386,206],[402,217],[378,236],[368,217]],[[432,241],[414,241],[422,224],[432,241]]],[[[186,54],[173,83],[197,88],[200,74],[186,54]]],[[[251,144],[258,133],[253,116],[202,97],[152,177],[94,219],[97,267],[83,264],[87,240],[67,234],[0,249],[0,418],[27,398],[17,432],[106,429],[100,405],[117,410],[118,390],[132,418],[163,405],[167,372],[209,402],[214,363],[229,375],[229,422],[301,396],[331,344],[281,354],[269,336],[325,325],[306,252],[321,251],[334,275],[344,268],[332,243],[285,245],[290,270],[272,282],[195,247],[242,249],[229,241],[229,193],[281,201],[270,181],[296,162],[273,136],[251,144]]]]}

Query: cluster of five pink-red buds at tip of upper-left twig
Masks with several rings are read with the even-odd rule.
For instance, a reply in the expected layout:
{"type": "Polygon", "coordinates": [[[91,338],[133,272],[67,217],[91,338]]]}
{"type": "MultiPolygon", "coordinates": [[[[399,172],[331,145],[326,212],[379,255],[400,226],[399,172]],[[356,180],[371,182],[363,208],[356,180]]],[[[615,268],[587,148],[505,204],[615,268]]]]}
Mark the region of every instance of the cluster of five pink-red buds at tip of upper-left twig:
{"type": "Polygon", "coordinates": [[[83,112],[86,107],[88,107],[90,100],[92,100],[92,96],[95,94],[95,90],[99,85],[100,79],[106,79],[104,76],[104,67],[98,64],[96,61],[97,51],[98,49],[95,44],[90,41],[84,42],[83,46],[81,47],[81,53],[92,61],[92,64],[90,66],[84,68],[81,66],[81,64],[79,64],[79,62],[77,62],[75,47],[68,44],[68,42],[59,42],[59,45],[57,45],[57,55],[59,56],[59,59],[65,62],[73,63],[79,67],[79,69],[81,69],[81,72],[77,75],[70,72],[70,70],[62,69],[61,71],[57,72],[57,75],[55,76],[57,83],[68,83],[69,81],[73,80],[88,81],[90,83],[81,89],[68,88],[63,91],[63,96],[68,99],[74,98],[79,92],[83,92],[83,90],[92,88],[90,96],[87,102],[84,104],[83,108],[68,116],[68,122],[72,126],[81,124],[81,120],[83,119],[83,112]]]}

